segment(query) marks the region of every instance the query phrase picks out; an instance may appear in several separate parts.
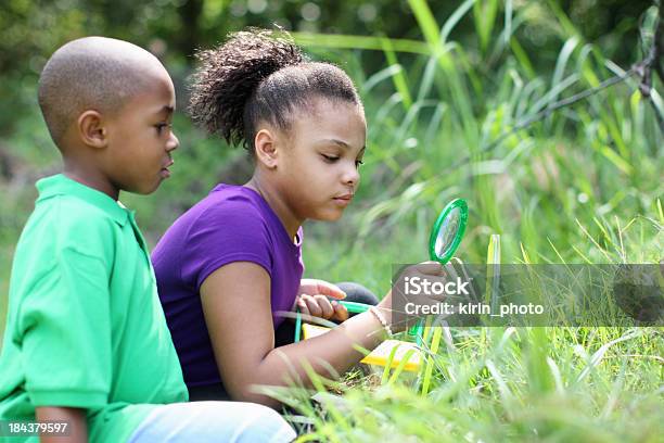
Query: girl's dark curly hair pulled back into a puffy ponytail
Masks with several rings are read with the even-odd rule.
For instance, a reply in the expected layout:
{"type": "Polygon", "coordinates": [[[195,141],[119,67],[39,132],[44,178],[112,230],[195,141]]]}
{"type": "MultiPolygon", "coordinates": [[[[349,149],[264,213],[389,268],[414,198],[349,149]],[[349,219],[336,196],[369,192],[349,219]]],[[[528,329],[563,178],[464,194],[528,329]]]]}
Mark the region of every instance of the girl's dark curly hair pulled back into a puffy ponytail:
{"type": "Polygon", "coordinates": [[[191,87],[192,119],[251,151],[260,122],[288,130],[294,111],[310,106],[315,98],[361,106],[344,71],[308,61],[285,31],[250,28],[196,56],[202,65],[191,87]]]}

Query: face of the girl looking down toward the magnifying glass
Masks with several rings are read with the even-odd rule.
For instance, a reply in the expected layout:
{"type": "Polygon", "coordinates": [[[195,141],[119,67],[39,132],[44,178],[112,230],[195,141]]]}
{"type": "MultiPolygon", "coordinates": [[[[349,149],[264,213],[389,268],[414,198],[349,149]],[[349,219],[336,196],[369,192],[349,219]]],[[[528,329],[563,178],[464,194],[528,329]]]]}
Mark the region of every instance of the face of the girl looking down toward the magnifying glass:
{"type": "Polygon", "coordinates": [[[361,106],[317,99],[293,116],[277,167],[278,186],[301,221],[339,219],[360,180],[367,123],[361,106]]]}

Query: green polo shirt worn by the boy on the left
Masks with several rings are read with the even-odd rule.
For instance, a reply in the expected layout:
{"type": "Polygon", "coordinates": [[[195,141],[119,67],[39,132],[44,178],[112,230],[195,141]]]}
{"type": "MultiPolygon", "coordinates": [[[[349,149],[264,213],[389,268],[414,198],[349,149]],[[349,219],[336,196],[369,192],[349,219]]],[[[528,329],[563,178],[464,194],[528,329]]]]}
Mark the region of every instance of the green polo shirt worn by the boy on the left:
{"type": "Polygon", "coordinates": [[[64,175],[37,189],[12,267],[0,419],[80,407],[90,441],[125,441],[154,404],[188,400],[145,242],[102,192],[64,175]]]}

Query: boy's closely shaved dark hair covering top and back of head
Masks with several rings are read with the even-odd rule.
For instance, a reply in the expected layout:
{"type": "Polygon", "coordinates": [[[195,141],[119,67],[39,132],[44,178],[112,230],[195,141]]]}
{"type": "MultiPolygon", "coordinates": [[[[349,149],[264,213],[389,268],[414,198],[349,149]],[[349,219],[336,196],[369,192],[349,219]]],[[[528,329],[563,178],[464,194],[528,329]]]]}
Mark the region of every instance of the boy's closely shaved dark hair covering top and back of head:
{"type": "Polygon", "coordinates": [[[127,41],[85,37],[61,47],[39,77],[39,106],[51,138],[62,138],[80,113],[113,114],[165,71],[150,52],[127,41]]]}

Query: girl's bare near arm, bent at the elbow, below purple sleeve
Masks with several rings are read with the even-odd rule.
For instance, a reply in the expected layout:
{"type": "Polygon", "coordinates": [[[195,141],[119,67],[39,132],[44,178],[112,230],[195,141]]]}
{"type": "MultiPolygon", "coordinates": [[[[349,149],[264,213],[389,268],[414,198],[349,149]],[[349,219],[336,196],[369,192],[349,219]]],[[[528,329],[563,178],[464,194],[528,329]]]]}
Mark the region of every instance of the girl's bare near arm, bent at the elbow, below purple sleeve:
{"type": "MultiPolygon", "coordinates": [[[[250,262],[231,263],[210,274],[201,286],[201,299],[221,379],[239,401],[276,407],[279,402],[252,392],[251,387],[288,385],[293,379],[310,387],[303,362],[317,374],[334,377],[329,367],[343,374],[363,357],[354,344],[373,350],[384,339],[381,322],[366,312],[322,336],[274,349],[270,277],[250,262]]],[[[388,303],[390,296],[379,307],[388,308],[388,303]]]]}

